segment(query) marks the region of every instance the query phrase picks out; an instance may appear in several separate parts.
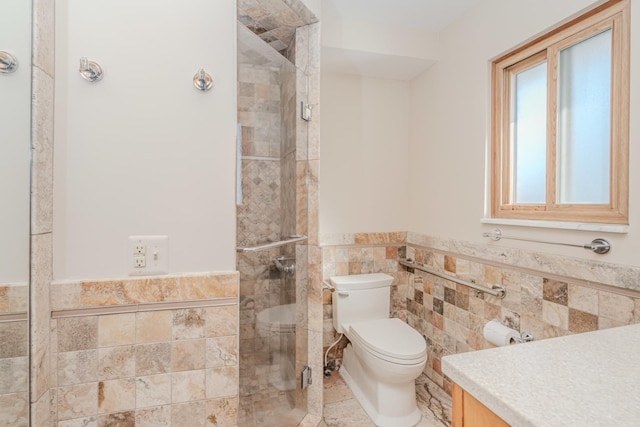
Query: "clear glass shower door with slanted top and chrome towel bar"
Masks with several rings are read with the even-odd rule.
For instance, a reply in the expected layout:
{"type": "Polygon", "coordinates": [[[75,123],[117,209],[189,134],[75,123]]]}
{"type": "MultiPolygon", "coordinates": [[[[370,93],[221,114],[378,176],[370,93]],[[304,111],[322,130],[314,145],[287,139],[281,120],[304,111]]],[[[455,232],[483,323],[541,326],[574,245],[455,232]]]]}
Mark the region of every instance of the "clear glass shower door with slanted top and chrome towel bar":
{"type": "Polygon", "coordinates": [[[237,46],[238,424],[297,426],[310,372],[307,75],[295,39],[278,52],[238,22],[237,46]]]}

